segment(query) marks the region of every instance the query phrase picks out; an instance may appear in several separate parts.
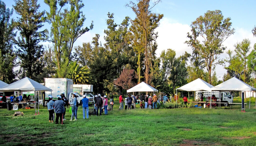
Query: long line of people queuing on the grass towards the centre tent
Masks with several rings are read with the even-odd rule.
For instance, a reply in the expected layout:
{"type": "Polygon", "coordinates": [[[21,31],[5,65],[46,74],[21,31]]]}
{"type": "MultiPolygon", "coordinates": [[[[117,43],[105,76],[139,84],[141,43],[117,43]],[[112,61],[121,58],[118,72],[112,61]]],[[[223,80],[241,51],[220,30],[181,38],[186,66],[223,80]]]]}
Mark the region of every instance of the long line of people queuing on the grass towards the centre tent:
{"type": "MultiPolygon", "coordinates": [[[[63,121],[65,119],[66,114],[66,108],[68,106],[71,106],[71,119],[70,121],[76,121],[77,120],[77,110],[79,103],[77,101],[77,95],[76,93],[72,94],[72,100],[68,102],[67,98],[65,97],[64,92],[61,93],[60,96],[58,96],[57,101],[52,100],[52,96],[49,96],[49,100],[47,103],[48,111],[49,111],[49,122],[53,123],[55,119],[55,113],[56,113],[56,120],[55,124],[58,124],[58,120],[60,119],[60,123],[63,124],[63,121]]],[[[183,98],[184,103],[187,103],[187,98],[184,96],[183,98]]],[[[119,110],[123,109],[125,106],[125,110],[131,110],[136,108],[136,103],[140,105],[140,108],[149,108],[149,109],[157,109],[157,103],[160,104],[160,102],[163,102],[165,104],[166,102],[169,102],[169,98],[167,95],[159,96],[157,97],[156,94],[152,96],[141,94],[141,95],[128,95],[127,98],[123,99],[123,94],[119,96],[119,110]],[[123,104],[124,103],[124,104],[123,104]]],[[[83,110],[83,119],[88,119],[89,117],[89,106],[88,106],[89,99],[86,98],[86,95],[83,95],[83,99],[81,101],[82,110],[83,110]]],[[[108,110],[112,111],[114,106],[114,96],[111,95],[110,97],[110,108],[108,109],[108,98],[106,95],[101,96],[101,94],[95,95],[94,98],[94,109],[96,112],[96,116],[101,116],[103,114],[108,115],[108,110]]]]}

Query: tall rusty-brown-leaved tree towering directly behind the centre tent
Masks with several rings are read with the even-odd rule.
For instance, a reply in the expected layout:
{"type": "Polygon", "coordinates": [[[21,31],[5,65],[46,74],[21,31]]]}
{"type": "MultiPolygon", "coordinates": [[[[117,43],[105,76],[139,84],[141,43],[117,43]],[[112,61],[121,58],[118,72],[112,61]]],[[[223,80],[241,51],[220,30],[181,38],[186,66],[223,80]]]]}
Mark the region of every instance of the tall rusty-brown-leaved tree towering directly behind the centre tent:
{"type": "Polygon", "coordinates": [[[145,56],[145,81],[149,83],[149,71],[150,67],[153,67],[151,64],[152,60],[149,58],[150,55],[154,55],[154,48],[151,48],[152,36],[157,35],[154,33],[154,30],[158,27],[159,21],[163,18],[163,14],[152,13],[151,9],[157,5],[161,0],[153,2],[153,5],[150,6],[150,0],[138,0],[138,3],[135,4],[132,1],[130,4],[126,4],[127,7],[130,7],[136,15],[136,18],[132,20],[132,29],[131,31],[134,34],[135,42],[135,51],[138,52],[138,68],[137,73],[139,74],[140,82],[140,69],[141,63],[141,52],[144,51],[145,56]]]}

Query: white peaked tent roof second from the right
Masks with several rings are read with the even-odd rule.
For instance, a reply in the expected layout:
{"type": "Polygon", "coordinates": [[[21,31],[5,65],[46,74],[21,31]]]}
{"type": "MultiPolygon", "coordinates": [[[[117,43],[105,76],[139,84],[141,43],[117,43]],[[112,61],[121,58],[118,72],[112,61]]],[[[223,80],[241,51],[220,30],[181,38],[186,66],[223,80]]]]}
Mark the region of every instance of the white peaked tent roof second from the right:
{"type": "Polygon", "coordinates": [[[198,78],[192,82],[189,82],[185,84],[184,86],[181,86],[177,88],[177,90],[180,91],[211,91],[211,88],[214,87],[211,84],[207,83],[206,81],[198,78]]]}

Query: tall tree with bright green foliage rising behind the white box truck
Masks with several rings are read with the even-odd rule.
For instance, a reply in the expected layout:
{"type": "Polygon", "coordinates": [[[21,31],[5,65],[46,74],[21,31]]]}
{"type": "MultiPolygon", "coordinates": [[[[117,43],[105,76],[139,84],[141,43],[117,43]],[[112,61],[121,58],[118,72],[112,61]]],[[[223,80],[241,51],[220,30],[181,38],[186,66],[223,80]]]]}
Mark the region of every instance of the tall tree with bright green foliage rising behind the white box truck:
{"type": "Polygon", "coordinates": [[[84,7],[82,0],[44,0],[44,2],[50,8],[50,11],[46,12],[45,21],[51,23],[51,33],[44,40],[53,43],[57,75],[65,77],[74,43],[82,34],[93,28],[93,23],[89,28],[83,28],[86,18],[81,11],[84,7]],[[69,4],[70,9],[62,10],[66,4],[69,4]]]}

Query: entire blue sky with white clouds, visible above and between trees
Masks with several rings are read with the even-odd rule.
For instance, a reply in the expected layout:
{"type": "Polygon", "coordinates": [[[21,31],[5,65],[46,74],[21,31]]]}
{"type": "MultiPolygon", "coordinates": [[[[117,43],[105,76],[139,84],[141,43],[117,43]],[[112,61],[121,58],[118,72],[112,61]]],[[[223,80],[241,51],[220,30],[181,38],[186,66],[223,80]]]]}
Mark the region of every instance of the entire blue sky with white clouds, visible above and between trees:
{"type": "MultiPolygon", "coordinates": [[[[6,7],[12,8],[14,5],[13,0],[3,0],[6,7]]],[[[137,3],[133,0],[134,3],[137,3]]],[[[48,11],[48,6],[44,4],[43,0],[38,0],[41,5],[41,10],[48,11]]],[[[89,26],[91,21],[94,21],[93,30],[87,32],[79,38],[75,45],[81,45],[82,42],[91,42],[95,34],[100,34],[100,40],[104,43],[104,29],[106,29],[107,13],[114,13],[114,20],[120,24],[125,16],[132,19],[135,18],[133,11],[125,7],[127,0],[83,0],[84,8],[83,14],[86,16],[84,26],[89,26]]],[[[230,17],[232,27],[236,29],[234,35],[230,36],[223,44],[227,46],[227,50],[234,50],[233,45],[241,42],[243,39],[248,38],[251,40],[251,46],[256,43],[256,38],[253,37],[251,30],[256,25],[255,19],[255,5],[256,1],[228,1],[228,0],[215,0],[215,1],[168,1],[162,0],[161,3],[156,5],[152,11],[154,13],[164,14],[164,18],[160,21],[158,31],[158,49],[157,56],[162,50],[172,48],[176,50],[177,57],[182,55],[185,51],[191,53],[189,48],[184,42],[187,40],[187,32],[190,31],[190,24],[196,20],[200,15],[204,15],[207,10],[219,9],[222,11],[224,18],[230,17]]],[[[16,19],[17,15],[13,17],[16,19]]],[[[45,25],[44,29],[48,29],[49,25],[45,25]]],[[[48,42],[43,42],[48,45],[48,42]]],[[[220,58],[226,57],[226,53],[220,55],[220,58]]],[[[222,77],[226,72],[223,66],[216,67],[217,76],[222,77]]],[[[219,78],[220,79],[220,78],[219,78]]]]}

